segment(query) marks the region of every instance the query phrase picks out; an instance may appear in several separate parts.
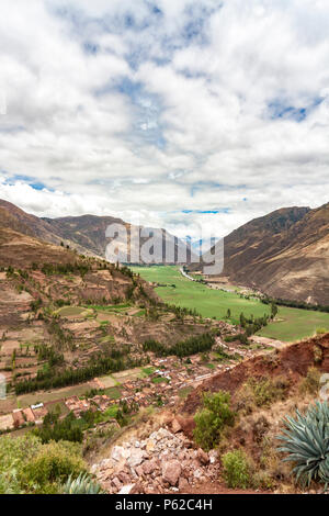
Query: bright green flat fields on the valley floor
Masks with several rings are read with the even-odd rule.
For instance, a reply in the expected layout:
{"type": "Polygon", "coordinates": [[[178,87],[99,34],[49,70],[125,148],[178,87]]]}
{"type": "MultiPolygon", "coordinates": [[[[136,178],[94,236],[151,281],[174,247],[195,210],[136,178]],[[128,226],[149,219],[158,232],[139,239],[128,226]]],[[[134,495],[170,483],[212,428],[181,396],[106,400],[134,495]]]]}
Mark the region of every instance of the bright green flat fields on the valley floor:
{"type": "MultiPolygon", "coordinates": [[[[238,323],[241,312],[246,316],[253,314],[254,317],[259,317],[270,311],[268,305],[258,300],[248,301],[236,293],[212,290],[204,284],[190,281],[180,273],[177,267],[132,267],[132,270],[147,281],[167,284],[168,287],[156,289],[158,295],[167,303],[195,309],[204,317],[223,319],[229,309],[230,321],[238,323]],[[175,284],[175,288],[171,284],[175,284]]],[[[279,322],[269,324],[259,335],[283,341],[294,341],[313,336],[319,327],[329,330],[329,314],[321,312],[279,306],[277,318],[279,322]]]]}

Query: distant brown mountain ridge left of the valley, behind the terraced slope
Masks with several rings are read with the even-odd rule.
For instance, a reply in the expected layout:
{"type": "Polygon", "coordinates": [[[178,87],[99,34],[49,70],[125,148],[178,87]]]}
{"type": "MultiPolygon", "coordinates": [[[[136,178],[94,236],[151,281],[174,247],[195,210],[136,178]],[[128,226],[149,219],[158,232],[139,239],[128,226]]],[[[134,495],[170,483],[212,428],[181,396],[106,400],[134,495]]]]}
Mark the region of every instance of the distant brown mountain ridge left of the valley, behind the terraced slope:
{"type": "MultiPolygon", "coordinates": [[[[143,246],[147,247],[149,236],[152,236],[152,246],[150,254],[154,262],[162,262],[166,256],[166,249],[171,249],[169,262],[190,262],[197,261],[196,255],[191,251],[189,246],[168,233],[166,229],[148,228],[134,226],[121,218],[113,216],[66,216],[60,218],[39,218],[35,215],[25,213],[10,202],[0,200],[0,226],[9,227],[23,235],[31,236],[47,243],[75,248],[78,253],[87,256],[97,256],[106,258],[109,261],[116,261],[117,256],[109,251],[107,245],[113,238],[106,238],[106,228],[112,224],[117,224],[124,228],[126,235],[115,238],[116,247],[120,251],[120,261],[143,262],[140,250],[143,246]],[[139,236],[138,239],[134,235],[139,236]],[[128,254],[124,256],[128,243],[128,254]]],[[[114,247],[114,246],[113,246],[114,247]]]]}

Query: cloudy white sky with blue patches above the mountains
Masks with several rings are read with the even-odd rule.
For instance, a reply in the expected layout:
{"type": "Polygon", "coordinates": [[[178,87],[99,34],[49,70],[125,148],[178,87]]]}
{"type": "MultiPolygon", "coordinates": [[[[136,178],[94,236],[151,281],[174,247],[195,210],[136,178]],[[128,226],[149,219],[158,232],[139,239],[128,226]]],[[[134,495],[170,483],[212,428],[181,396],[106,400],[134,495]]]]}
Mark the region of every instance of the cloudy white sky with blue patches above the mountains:
{"type": "Polygon", "coordinates": [[[329,192],[327,0],[1,0],[0,198],[224,236],[329,192]]]}

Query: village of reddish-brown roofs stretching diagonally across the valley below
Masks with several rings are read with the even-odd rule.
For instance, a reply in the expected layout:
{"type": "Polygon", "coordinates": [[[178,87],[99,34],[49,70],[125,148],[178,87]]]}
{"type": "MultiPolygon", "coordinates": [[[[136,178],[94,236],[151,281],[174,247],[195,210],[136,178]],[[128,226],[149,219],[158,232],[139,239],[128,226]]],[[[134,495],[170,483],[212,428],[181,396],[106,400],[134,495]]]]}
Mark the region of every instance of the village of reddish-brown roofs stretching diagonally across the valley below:
{"type": "MultiPolygon", "coordinates": [[[[114,374],[118,396],[106,394],[109,384],[113,385],[112,375],[94,378],[86,384],[88,391],[95,392],[92,396],[71,395],[58,397],[52,402],[39,402],[25,408],[15,408],[11,413],[0,416],[0,433],[13,431],[24,427],[42,425],[44,417],[56,405],[65,405],[66,414],[72,412],[80,418],[87,411],[104,413],[110,407],[126,403],[134,412],[148,406],[173,406],[180,399],[186,396],[204,380],[212,375],[234,368],[239,361],[252,358],[259,352],[269,349],[268,343],[254,347],[241,347],[236,343],[225,344],[217,337],[216,346],[211,356],[195,355],[188,359],[178,360],[177,357],[154,357],[147,368],[123,371],[114,374]],[[225,358],[216,352],[225,349],[225,358]],[[117,380],[122,379],[121,382],[117,380]],[[110,381],[110,383],[109,383],[110,381]]],[[[42,393],[38,393],[42,400],[42,393]]]]}

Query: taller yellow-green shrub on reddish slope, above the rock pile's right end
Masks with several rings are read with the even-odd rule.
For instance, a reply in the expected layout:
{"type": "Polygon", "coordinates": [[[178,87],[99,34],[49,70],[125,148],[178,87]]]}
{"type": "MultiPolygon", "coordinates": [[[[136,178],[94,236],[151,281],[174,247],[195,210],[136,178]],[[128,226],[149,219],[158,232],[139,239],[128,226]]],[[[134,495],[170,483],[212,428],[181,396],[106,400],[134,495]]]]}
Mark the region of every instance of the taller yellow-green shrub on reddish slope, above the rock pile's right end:
{"type": "Polygon", "coordinates": [[[195,441],[206,451],[218,445],[220,435],[226,425],[232,425],[235,414],[229,407],[230,395],[219,391],[215,394],[204,393],[203,408],[194,417],[195,441]]]}

